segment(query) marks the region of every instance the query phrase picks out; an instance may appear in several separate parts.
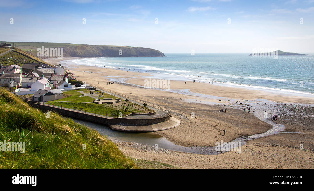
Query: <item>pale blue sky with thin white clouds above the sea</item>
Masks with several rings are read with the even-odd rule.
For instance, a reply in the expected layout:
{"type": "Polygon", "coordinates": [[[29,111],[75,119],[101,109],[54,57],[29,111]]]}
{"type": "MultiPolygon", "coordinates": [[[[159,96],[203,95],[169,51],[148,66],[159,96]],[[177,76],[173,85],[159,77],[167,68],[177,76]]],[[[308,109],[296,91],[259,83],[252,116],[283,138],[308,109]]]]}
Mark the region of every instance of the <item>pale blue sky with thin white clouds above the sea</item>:
{"type": "Polygon", "coordinates": [[[314,52],[314,0],[0,0],[0,11],[0,41],[314,52]]]}

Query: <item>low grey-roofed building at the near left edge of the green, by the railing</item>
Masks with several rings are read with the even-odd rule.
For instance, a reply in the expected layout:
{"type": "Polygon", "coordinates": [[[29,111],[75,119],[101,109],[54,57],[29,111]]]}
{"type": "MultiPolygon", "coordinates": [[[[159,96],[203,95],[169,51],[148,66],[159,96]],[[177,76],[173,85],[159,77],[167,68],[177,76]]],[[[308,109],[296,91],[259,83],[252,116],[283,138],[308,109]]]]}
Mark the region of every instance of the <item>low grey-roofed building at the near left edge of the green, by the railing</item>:
{"type": "Polygon", "coordinates": [[[33,101],[54,101],[62,99],[63,93],[59,89],[38,90],[32,97],[33,101]]]}

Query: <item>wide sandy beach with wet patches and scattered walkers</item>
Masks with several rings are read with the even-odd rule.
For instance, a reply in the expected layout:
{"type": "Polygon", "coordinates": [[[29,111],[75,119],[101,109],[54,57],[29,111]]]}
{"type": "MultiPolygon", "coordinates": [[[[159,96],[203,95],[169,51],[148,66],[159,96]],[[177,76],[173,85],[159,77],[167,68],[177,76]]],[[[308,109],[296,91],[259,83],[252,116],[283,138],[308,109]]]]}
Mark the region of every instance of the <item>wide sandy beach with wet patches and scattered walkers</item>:
{"type": "MultiPolygon", "coordinates": [[[[77,59],[75,57],[62,60],[77,59]]],[[[46,59],[57,65],[60,59],[46,59]]],[[[262,134],[275,125],[284,131],[248,140],[242,152],[229,151],[218,155],[177,152],[138,143],[115,141],[120,150],[136,159],[168,163],[181,168],[314,168],[313,97],[282,95],[262,90],[226,87],[192,81],[170,81],[170,90],[144,88],[145,79],[154,76],[111,68],[64,65],[77,80],[130,94],[138,99],[169,107],[181,125],[156,132],[169,141],[186,147],[215,146],[241,136],[262,134]],[[91,73],[93,72],[93,73],[91,73]],[[115,82],[107,85],[107,82],[115,82]],[[219,101],[220,100],[220,101],[219,101]],[[286,103],[286,105],[284,105],[286,103]],[[227,108],[226,112],[219,110],[227,108]],[[243,108],[246,111],[243,112],[243,108]],[[247,112],[251,109],[250,113],[247,112]],[[277,121],[272,116],[278,115],[277,121]],[[193,117],[194,116],[194,117],[193,117]],[[266,117],[265,117],[266,116],[266,117]],[[223,136],[223,129],[226,130],[223,136]],[[300,149],[300,144],[304,149],[300,149]],[[261,160],[262,159],[262,160],[261,160]]],[[[224,110],[225,111],[225,110],[224,110]]]]}

